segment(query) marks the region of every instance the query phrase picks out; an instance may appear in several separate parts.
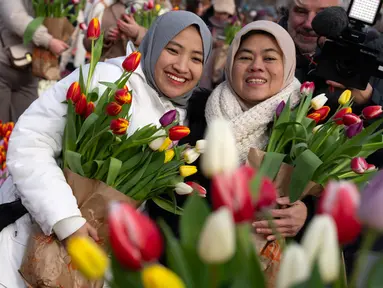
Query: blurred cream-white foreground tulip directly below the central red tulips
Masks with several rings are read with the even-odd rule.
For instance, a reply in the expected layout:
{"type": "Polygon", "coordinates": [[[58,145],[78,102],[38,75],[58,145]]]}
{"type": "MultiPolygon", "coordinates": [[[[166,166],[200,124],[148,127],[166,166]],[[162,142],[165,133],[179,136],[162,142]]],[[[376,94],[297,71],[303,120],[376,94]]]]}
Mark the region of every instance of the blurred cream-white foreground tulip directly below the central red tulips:
{"type": "Polygon", "coordinates": [[[207,218],[200,235],[197,252],[208,264],[222,264],[235,254],[235,226],[226,207],[213,212],[207,218]]]}

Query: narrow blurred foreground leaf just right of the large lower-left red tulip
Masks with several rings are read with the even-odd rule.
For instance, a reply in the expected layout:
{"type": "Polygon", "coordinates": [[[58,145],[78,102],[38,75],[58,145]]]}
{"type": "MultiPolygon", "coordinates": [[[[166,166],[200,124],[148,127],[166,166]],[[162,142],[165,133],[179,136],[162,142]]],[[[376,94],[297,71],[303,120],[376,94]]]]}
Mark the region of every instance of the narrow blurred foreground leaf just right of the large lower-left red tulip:
{"type": "Polygon", "coordinates": [[[158,224],[166,238],[166,258],[168,267],[181,277],[185,283],[185,287],[193,288],[194,283],[190,275],[190,267],[188,267],[187,259],[184,256],[179,242],[173,236],[169,226],[162,219],[158,224]]]}

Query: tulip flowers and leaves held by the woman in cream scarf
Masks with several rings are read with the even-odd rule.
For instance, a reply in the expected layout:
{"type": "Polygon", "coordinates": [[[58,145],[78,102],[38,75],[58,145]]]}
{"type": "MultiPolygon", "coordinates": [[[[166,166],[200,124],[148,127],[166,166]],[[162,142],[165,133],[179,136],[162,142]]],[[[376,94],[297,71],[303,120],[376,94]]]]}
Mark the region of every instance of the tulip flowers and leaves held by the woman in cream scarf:
{"type": "Polygon", "coordinates": [[[328,117],[325,94],[313,97],[314,84],[301,87],[301,102],[291,110],[281,102],[275,112],[271,136],[263,156],[262,170],[274,179],[282,163],[293,167],[289,185],[290,200],[298,200],[310,181],[320,185],[330,179],[364,183],[376,168],[365,157],[383,148],[383,119],[364,127],[365,120],[382,114],[381,106],[366,107],[362,115],[352,113],[352,95],[346,90],[339,108],[328,117]]]}

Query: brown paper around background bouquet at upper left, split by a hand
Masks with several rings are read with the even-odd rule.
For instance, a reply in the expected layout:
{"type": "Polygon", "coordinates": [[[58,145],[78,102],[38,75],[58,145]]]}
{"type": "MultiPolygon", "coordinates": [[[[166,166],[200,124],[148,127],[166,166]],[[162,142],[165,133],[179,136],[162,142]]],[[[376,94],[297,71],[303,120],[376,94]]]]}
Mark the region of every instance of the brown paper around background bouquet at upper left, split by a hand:
{"type": "MultiPolygon", "coordinates": [[[[74,32],[66,17],[45,18],[44,26],[55,39],[67,42],[74,32]]],[[[32,53],[32,73],[46,80],[60,80],[60,64],[56,55],[47,49],[36,47],[32,53]]]]}

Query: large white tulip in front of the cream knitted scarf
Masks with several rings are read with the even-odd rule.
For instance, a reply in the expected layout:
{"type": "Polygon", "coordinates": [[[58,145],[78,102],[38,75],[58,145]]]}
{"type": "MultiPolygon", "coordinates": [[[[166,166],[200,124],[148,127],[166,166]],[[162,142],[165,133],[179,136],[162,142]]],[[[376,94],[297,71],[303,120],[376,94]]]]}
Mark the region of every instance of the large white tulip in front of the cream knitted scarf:
{"type": "Polygon", "coordinates": [[[207,177],[231,173],[239,167],[239,157],[230,123],[214,119],[207,129],[206,149],[202,154],[201,169],[207,177]]]}

